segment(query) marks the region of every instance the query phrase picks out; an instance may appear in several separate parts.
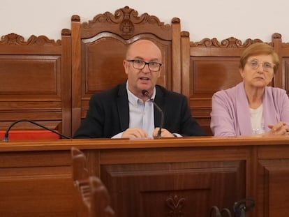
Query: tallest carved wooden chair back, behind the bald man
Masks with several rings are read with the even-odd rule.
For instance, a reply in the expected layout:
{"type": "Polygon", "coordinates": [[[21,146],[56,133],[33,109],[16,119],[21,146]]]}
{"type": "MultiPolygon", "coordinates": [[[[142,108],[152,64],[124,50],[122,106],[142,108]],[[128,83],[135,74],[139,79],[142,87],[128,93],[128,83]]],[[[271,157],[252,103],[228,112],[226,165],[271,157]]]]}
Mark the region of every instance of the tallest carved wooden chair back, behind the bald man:
{"type": "Polygon", "coordinates": [[[158,84],[181,91],[180,20],[164,24],[158,17],[128,6],[114,14],[98,14],[89,22],[71,18],[72,37],[72,131],[80,126],[93,93],[126,81],[122,65],[126,47],[140,38],[153,40],[163,53],[158,84]]]}

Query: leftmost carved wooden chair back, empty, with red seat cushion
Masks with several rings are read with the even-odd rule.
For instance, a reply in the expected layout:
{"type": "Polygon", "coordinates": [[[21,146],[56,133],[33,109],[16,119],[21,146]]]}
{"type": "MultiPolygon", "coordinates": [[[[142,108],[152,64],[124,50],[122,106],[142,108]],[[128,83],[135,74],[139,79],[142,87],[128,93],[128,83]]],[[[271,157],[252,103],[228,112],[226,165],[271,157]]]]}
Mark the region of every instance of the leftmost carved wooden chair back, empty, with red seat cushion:
{"type": "MultiPolygon", "coordinates": [[[[71,31],[61,40],[16,33],[0,40],[0,130],[29,119],[71,135],[71,31]]],[[[12,130],[40,130],[22,122],[12,130]]],[[[25,132],[25,131],[23,131],[25,132]]]]}

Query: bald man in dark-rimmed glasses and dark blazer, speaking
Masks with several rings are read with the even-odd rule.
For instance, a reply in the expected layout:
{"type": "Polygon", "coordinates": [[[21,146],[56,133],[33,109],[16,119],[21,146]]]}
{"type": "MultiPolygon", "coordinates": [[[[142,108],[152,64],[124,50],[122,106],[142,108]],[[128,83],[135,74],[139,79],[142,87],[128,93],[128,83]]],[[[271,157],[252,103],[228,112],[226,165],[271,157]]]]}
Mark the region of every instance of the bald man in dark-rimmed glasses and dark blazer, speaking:
{"type": "Polygon", "coordinates": [[[124,84],[96,93],[75,138],[151,138],[205,135],[187,98],[156,84],[162,54],[151,40],[137,40],[123,62],[124,84]]]}

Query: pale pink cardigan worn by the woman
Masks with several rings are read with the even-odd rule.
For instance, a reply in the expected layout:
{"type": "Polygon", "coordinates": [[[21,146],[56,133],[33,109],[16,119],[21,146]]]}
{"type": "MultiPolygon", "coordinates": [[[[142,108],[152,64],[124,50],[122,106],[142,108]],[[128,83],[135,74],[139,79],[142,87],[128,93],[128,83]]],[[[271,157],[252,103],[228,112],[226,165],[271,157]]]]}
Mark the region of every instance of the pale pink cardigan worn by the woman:
{"type": "MultiPolygon", "coordinates": [[[[265,132],[268,124],[284,121],[289,124],[289,99],[286,91],[266,87],[262,99],[265,132]]],[[[215,136],[252,135],[250,110],[244,83],[214,93],[212,97],[211,129],[215,136]]]]}

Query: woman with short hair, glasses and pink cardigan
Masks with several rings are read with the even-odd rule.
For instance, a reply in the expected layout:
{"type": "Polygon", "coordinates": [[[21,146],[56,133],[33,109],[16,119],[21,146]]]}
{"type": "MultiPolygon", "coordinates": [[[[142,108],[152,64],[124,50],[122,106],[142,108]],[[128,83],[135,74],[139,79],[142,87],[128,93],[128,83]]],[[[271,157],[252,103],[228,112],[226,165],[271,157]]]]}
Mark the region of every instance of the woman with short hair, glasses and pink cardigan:
{"type": "Polygon", "coordinates": [[[215,136],[287,135],[289,99],[286,91],[269,87],[279,67],[272,46],[254,43],[239,61],[243,81],[212,97],[211,129],[215,136]]]}

